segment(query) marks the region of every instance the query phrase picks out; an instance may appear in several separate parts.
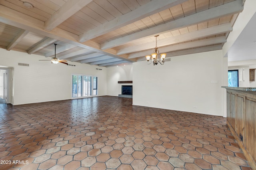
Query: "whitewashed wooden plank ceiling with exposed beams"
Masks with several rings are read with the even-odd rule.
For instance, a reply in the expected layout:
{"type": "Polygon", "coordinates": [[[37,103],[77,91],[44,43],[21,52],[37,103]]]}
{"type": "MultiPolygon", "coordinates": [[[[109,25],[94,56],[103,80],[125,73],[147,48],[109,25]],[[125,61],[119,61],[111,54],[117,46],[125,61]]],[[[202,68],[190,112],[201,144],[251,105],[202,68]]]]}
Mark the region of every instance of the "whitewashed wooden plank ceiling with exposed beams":
{"type": "Polygon", "coordinates": [[[243,0],[1,0],[0,47],[99,66],[222,49],[243,0]],[[31,8],[25,6],[32,4],[31,8]]]}

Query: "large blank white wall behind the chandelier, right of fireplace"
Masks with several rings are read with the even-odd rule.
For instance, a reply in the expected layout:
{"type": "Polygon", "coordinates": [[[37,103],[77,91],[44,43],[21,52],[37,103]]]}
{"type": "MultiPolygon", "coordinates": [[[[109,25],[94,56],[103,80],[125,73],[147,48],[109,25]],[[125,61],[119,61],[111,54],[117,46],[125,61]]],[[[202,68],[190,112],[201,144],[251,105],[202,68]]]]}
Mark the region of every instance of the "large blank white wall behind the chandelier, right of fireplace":
{"type": "Polygon", "coordinates": [[[228,83],[228,62],[222,56],[218,50],[171,57],[164,65],[133,63],[133,105],[226,117],[221,86],[228,83]]]}

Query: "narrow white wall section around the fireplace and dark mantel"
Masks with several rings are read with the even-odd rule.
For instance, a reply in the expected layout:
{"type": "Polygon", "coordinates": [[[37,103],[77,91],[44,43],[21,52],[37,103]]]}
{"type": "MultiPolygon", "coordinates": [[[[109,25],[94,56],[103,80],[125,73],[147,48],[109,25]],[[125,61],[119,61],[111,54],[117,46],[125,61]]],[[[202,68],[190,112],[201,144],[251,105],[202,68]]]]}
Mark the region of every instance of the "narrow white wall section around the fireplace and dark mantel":
{"type": "Polygon", "coordinates": [[[107,67],[107,95],[118,96],[122,94],[122,85],[118,81],[132,81],[132,64],[107,67]]]}

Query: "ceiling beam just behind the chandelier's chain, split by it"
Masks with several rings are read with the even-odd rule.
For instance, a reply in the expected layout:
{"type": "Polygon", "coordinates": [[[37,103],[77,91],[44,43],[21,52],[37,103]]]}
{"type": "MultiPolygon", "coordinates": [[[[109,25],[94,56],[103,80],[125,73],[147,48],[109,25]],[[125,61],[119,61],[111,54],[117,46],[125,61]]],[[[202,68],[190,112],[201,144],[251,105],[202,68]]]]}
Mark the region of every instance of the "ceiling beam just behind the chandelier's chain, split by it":
{"type": "MultiPolygon", "coordinates": [[[[209,38],[209,39],[198,40],[198,41],[194,41],[194,42],[181,43],[181,44],[177,44],[177,45],[161,47],[161,48],[159,48],[159,51],[160,51],[160,53],[167,53],[170,51],[178,51],[178,50],[182,50],[182,49],[195,48],[195,47],[201,47],[201,46],[206,46],[206,45],[214,45],[214,44],[225,43],[225,42],[227,42],[225,36],[220,36],[220,37],[216,37],[216,38],[209,38]]],[[[130,54],[129,57],[130,58],[138,58],[138,57],[150,55],[151,53],[152,53],[151,50],[147,50],[147,51],[142,51],[139,53],[130,54]]]]}

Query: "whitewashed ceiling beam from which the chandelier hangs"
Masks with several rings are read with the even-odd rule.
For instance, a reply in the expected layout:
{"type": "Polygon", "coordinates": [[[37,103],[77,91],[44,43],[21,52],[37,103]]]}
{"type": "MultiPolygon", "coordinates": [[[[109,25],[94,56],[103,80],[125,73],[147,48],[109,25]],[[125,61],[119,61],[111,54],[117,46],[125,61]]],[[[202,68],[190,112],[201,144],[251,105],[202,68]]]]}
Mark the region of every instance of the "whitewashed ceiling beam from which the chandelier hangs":
{"type": "MultiPolygon", "coordinates": [[[[186,34],[181,34],[178,36],[173,36],[173,37],[158,40],[157,46],[162,47],[162,46],[171,45],[174,43],[181,43],[181,42],[186,42],[189,40],[196,40],[199,38],[213,36],[216,34],[231,32],[232,30],[233,29],[231,27],[231,24],[230,24],[230,22],[228,22],[226,24],[221,24],[218,26],[204,28],[202,30],[188,32],[186,34]]],[[[131,46],[131,47],[120,49],[117,51],[117,54],[120,55],[120,54],[126,54],[126,53],[134,53],[134,52],[142,51],[142,50],[146,50],[146,49],[153,49],[155,46],[156,46],[156,42],[144,43],[141,45],[136,45],[136,46],[131,46]]]]}

